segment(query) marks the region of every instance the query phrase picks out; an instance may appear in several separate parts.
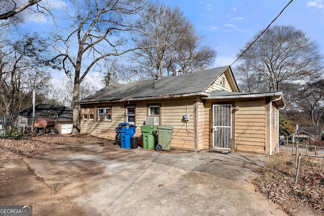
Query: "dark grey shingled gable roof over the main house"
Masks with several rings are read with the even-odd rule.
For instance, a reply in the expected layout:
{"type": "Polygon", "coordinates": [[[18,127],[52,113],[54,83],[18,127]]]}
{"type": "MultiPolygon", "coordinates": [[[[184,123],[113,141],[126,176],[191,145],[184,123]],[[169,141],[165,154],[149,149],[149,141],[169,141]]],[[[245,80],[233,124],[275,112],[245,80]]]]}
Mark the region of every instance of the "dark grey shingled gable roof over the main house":
{"type": "Polygon", "coordinates": [[[159,80],[144,80],[125,85],[114,84],[102,88],[97,93],[80,99],[76,103],[199,93],[203,92],[228,67],[223,66],[178,76],[162,77],[159,80]]]}

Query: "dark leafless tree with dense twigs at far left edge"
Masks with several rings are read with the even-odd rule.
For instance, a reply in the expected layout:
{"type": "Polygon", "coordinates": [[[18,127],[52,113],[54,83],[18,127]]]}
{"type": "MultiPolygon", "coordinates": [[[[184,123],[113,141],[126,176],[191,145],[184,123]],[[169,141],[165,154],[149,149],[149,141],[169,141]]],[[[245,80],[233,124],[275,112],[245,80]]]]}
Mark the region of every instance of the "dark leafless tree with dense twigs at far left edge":
{"type": "Polygon", "coordinates": [[[0,49],[2,113],[18,112],[32,88],[47,88],[51,74],[40,64],[47,51],[44,42],[37,34],[24,34],[17,41],[6,41],[6,46],[0,49]]]}

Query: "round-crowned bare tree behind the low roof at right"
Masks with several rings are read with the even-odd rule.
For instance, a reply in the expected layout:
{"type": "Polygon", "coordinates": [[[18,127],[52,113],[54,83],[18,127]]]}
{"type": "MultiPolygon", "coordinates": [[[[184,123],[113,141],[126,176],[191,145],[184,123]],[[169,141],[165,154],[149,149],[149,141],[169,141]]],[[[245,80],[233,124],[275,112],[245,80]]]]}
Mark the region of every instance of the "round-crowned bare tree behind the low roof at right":
{"type": "Polygon", "coordinates": [[[282,82],[309,81],[319,76],[323,57],[304,32],[293,26],[276,25],[246,50],[260,32],[237,54],[244,61],[236,69],[239,82],[251,86],[246,77],[249,74],[256,78],[255,82],[266,82],[268,91],[279,91],[282,82]]]}

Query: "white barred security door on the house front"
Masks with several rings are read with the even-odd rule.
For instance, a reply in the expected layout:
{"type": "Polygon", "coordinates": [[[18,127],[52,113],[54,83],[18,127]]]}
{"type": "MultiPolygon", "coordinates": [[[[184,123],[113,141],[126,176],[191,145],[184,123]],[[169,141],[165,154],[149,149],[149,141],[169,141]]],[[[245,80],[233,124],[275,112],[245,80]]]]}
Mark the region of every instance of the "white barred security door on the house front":
{"type": "Polygon", "coordinates": [[[231,149],[232,105],[213,105],[213,148],[231,149]]]}

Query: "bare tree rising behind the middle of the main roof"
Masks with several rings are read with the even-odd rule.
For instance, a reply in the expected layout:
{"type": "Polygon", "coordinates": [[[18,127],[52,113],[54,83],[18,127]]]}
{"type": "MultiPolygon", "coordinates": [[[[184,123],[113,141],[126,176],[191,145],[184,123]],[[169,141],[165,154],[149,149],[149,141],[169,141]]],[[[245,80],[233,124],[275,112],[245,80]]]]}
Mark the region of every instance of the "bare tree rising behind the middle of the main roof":
{"type": "Polygon", "coordinates": [[[152,3],[141,20],[142,32],[135,39],[138,46],[160,46],[136,51],[137,61],[151,77],[170,75],[177,68],[183,73],[203,69],[214,63],[216,52],[201,43],[194,26],[178,7],[152,3]]]}

